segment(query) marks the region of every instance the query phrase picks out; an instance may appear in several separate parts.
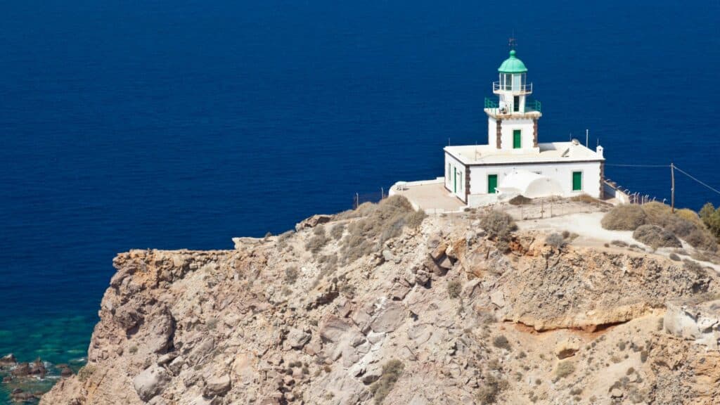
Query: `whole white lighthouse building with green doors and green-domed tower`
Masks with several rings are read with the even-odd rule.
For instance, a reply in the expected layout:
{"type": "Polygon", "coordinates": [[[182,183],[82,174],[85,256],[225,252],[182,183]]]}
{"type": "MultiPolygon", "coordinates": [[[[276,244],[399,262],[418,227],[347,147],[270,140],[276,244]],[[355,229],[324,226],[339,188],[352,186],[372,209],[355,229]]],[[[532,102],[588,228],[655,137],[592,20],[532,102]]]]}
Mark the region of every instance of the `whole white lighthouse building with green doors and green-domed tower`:
{"type": "Polygon", "coordinates": [[[487,145],[447,146],[446,190],[470,206],[500,198],[603,197],[603,147],[596,151],[578,141],[538,142],[540,102],[529,99],[528,69],[510,50],[492,83],[498,101],[485,99],[487,145]]]}

